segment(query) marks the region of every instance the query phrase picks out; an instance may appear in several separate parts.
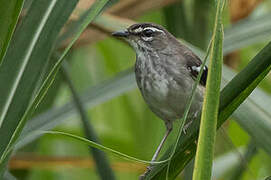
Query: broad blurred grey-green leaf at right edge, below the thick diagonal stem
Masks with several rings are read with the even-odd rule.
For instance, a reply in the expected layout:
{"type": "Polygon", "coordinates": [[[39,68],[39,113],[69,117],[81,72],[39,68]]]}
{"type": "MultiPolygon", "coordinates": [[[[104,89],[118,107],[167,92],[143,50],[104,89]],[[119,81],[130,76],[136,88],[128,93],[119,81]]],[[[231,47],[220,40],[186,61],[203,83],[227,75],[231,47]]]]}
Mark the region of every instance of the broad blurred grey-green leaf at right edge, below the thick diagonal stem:
{"type": "Polygon", "coordinates": [[[237,123],[252,137],[254,143],[271,154],[270,96],[255,89],[233,113],[237,123]],[[260,104],[259,104],[260,103],[260,104]],[[266,106],[267,105],[267,106],[266,106]]]}

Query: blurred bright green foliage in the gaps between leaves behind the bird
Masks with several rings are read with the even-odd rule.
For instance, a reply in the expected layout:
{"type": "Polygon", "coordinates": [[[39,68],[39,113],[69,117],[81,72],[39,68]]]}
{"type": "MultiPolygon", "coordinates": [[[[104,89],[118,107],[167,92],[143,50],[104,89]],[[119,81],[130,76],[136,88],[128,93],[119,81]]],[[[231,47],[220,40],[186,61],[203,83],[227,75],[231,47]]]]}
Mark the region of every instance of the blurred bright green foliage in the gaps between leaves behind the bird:
{"type": "MultiPolygon", "coordinates": [[[[185,8],[193,9],[193,4],[188,1],[185,2],[185,8]]],[[[200,4],[201,1],[197,1],[200,4]]],[[[270,4],[270,1],[266,1],[270,4]]],[[[201,48],[206,47],[206,42],[209,38],[208,28],[205,30],[203,39],[198,38],[200,35],[194,36],[193,33],[198,33],[199,28],[195,32],[193,23],[199,21],[194,19],[191,22],[193,14],[197,11],[188,11],[186,19],[178,17],[177,15],[184,15],[176,11],[178,6],[169,6],[167,9],[158,9],[145,13],[137,19],[138,22],[155,22],[168,27],[169,30],[176,30],[176,35],[186,39],[187,41],[198,45],[201,48]],[[171,11],[175,9],[174,11],[171,11]],[[174,14],[174,12],[177,12],[174,14]],[[171,14],[170,14],[171,13],[171,14]],[[190,14],[189,14],[190,13],[190,14]],[[177,15],[176,15],[177,14],[177,15]],[[171,21],[168,19],[170,18],[171,21]],[[174,18],[174,19],[172,19],[174,18]],[[178,28],[172,27],[172,24],[178,24],[178,28]],[[186,26],[182,26],[186,24],[186,26]],[[187,27],[182,29],[182,27],[187,27]],[[198,41],[198,42],[197,42],[198,41]]],[[[268,7],[268,5],[265,5],[268,7]]],[[[196,6],[201,9],[200,5],[196,6]]],[[[204,6],[206,7],[206,6],[204,6]]],[[[211,8],[211,7],[208,7],[211,8]]],[[[268,9],[268,8],[267,8],[268,9]]],[[[267,11],[270,11],[269,8],[267,11]]],[[[264,14],[262,10],[256,10],[255,14],[264,14]]],[[[204,13],[202,11],[201,13],[204,13]]],[[[206,13],[206,12],[205,12],[206,13]]],[[[212,16],[212,13],[208,13],[212,16]]],[[[209,16],[203,17],[207,20],[204,21],[205,25],[209,25],[209,16]]],[[[174,32],[173,32],[174,33],[174,32]]],[[[264,47],[265,42],[251,45],[240,50],[240,65],[236,71],[243,69],[249,60],[264,47]]],[[[126,70],[133,66],[135,62],[134,51],[127,46],[127,44],[120,42],[112,37],[107,37],[92,45],[87,45],[72,50],[67,57],[71,64],[71,77],[77,90],[81,93],[86,91],[89,87],[94,86],[114,77],[118,72],[126,70]]],[[[266,92],[271,93],[271,79],[270,75],[260,84],[266,92]]],[[[57,93],[53,107],[59,107],[64,103],[71,100],[67,86],[62,83],[59,92],[57,93]]],[[[107,147],[113,148],[120,152],[129,154],[131,156],[149,160],[159,144],[161,137],[165,131],[164,124],[159,120],[144,103],[139,91],[137,89],[127,92],[119,97],[109,100],[101,105],[88,111],[92,118],[92,125],[94,126],[97,135],[101,139],[101,143],[107,147]]],[[[59,125],[56,130],[69,132],[83,136],[81,122],[79,116],[75,118],[67,118],[65,123],[59,125]]],[[[216,157],[223,156],[224,153],[229,151],[236,151],[238,147],[244,147],[249,143],[250,137],[236,122],[230,120],[224,127],[225,132],[229,135],[233,145],[229,145],[229,141],[225,140],[224,132],[220,132],[217,136],[216,157]]],[[[176,133],[171,135],[170,140],[164,147],[164,150],[171,145],[176,133]]],[[[231,142],[230,142],[231,143],[231,142]]],[[[42,136],[35,141],[35,146],[30,146],[30,152],[50,157],[90,157],[88,147],[79,144],[78,142],[68,140],[60,136],[42,136]]],[[[27,150],[29,153],[29,149],[27,150]]],[[[24,153],[24,149],[17,152],[18,155],[24,153]]],[[[108,154],[112,165],[115,163],[127,162],[121,158],[108,154]]],[[[129,162],[129,161],[128,161],[129,162]]],[[[117,179],[138,179],[142,173],[142,169],[133,169],[134,167],[114,167],[117,179]],[[129,171],[129,168],[131,169],[129,171]]],[[[42,166],[41,166],[42,167],[42,166]]],[[[16,171],[12,171],[16,175],[16,171]]],[[[263,179],[271,174],[271,158],[266,152],[259,150],[258,154],[253,157],[252,161],[248,164],[248,170],[242,176],[243,180],[263,179]]],[[[23,176],[17,174],[18,179],[23,179],[23,176]]],[[[28,170],[28,174],[24,176],[27,180],[75,180],[78,179],[99,179],[94,168],[79,168],[76,166],[58,166],[51,168],[33,167],[28,170]]],[[[223,179],[230,177],[230,173],[226,173],[223,179]]],[[[178,177],[178,179],[182,179],[178,177]]]]}

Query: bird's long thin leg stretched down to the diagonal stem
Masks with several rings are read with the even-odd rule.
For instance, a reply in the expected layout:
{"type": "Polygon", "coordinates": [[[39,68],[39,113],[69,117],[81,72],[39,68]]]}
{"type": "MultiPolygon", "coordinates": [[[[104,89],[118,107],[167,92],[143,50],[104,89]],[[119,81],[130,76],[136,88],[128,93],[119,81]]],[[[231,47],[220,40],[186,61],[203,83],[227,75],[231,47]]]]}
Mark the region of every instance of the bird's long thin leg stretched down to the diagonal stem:
{"type": "MultiPolygon", "coordinates": [[[[161,151],[161,149],[162,149],[164,143],[166,142],[166,139],[167,139],[168,135],[169,135],[170,132],[172,131],[172,123],[168,123],[168,122],[167,122],[167,123],[166,123],[166,127],[167,127],[166,133],[165,133],[165,135],[164,135],[162,141],[160,142],[158,148],[156,149],[156,151],[155,151],[155,153],[154,153],[154,155],[153,155],[153,157],[152,157],[151,162],[155,162],[155,161],[156,161],[156,159],[157,159],[157,157],[158,157],[158,155],[159,155],[159,153],[160,153],[160,151],[161,151]]],[[[144,179],[144,177],[151,171],[151,169],[152,169],[151,165],[152,165],[152,163],[147,167],[146,172],[145,172],[143,175],[140,176],[140,178],[139,178],[140,180],[141,180],[141,179],[144,179]]]]}

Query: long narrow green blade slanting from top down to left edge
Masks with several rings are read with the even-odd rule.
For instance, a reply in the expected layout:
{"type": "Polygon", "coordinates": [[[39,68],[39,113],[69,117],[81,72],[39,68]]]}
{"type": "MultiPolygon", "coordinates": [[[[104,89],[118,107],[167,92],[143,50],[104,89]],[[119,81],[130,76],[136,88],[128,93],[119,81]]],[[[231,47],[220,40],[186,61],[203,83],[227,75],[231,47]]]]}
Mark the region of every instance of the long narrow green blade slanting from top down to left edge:
{"type": "MultiPolygon", "coordinates": [[[[3,164],[7,162],[7,157],[10,155],[10,152],[12,151],[12,148],[14,148],[13,143],[17,140],[17,138],[19,137],[19,135],[20,135],[20,133],[21,133],[23,127],[24,127],[24,124],[31,117],[31,115],[34,113],[36,107],[38,106],[38,104],[40,103],[40,101],[42,100],[42,98],[44,97],[44,95],[46,94],[46,92],[48,91],[48,88],[52,84],[52,82],[53,82],[53,80],[54,80],[54,78],[56,76],[56,73],[58,72],[58,70],[60,68],[60,65],[61,65],[61,62],[63,61],[65,55],[68,53],[68,51],[70,50],[70,48],[72,47],[72,45],[74,44],[74,42],[79,38],[80,34],[84,31],[84,29],[88,26],[88,24],[101,12],[102,8],[105,6],[105,4],[107,3],[107,1],[108,0],[96,1],[92,5],[92,7],[88,10],[88,13],[86,15],[85,20],[82,22],[82,24],[80,24],[80,26],[78,27],[78,31],[76,32],[76,34],[72,38],[71,43],[67,46],[67,48],[64,50],[64,52],[61,55],[61,57],[55,63],[54,67],[51,69],[49,75],[46,77],[46,79],[43,82],[41,88],[38,90],[36,96],[34,97],[33,101],[28,104],[28,106],[27,106],[28,108],[26,109],[25,112],[20,112],[20,113],[22,113],[22,118],[19,119],[19,120],[17,120],[17,124],[12,124],[12,126],[13,126],[14,129],[11,129],[11,131],[8,132],[8,135],[11,135],[11,136],[9,138],[7,138],[7,140],[6,140],[7,144],[1,144],[2,146],[0,146],[0,150],[2,150],[2,152],[0,151],[1,152],[1,159],[0,159],[0,166],[1,166],[0,167],[0,171],[1,172],[4,171],[3,164]]],[[[35,2],[37,2],[37,1],[35,1],[35,2]]],[[[66,1],[65,0],[63,0],[63,1],[61,0],[59,2],[65,3],[66,1]]],[[[40,4],[43,5],[43,3],[40,3],[40,4]]],[[[51,10],[51,8],[52,8],[51,6],[54,7],[55,4],[56,4],[55,1],[53,1],[52,4],[49,3],[48,9],[51,10]]],[[[75,4],[76,3],[74,3],[73,5],[75,6],[75,4]]],[[[45,14],[47,14],[47,13],[45,13],[45,14]]],[[[1,73],[1,71],[0,71],[0,73],[1,73]]],[[[8,113],[8,115],[10,115],[10,113],[8,113]]],[[[6,121],[4,121],[4,122],[6,122],[6,121]]],[[[7,122],[6,124],[9,125],[9,122],[7,122]]],[[[1,126],[1,128],[2,127],[3,126],[1,126]]],[[[3,129],[7,130],[7,129],[9,129],[9,127],[7,126],[7,127],[4,127],[3,129]]],[[[2,130],[2,131],[0,131],[0,135],[1,135],[1,133],[5,133],[5,132],[2,130]]]]}

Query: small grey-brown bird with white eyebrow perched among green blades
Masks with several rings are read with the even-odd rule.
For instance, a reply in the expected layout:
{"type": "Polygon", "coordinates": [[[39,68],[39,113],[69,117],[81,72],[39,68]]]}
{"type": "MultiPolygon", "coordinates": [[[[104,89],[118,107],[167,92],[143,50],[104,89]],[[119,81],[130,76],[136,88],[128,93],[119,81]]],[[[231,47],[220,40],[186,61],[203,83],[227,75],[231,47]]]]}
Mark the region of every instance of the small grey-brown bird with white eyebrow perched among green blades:
{"type": "MultiPolygon", "coordinates": [[[[137,86],[150,110],[165,123],[166,132],[151,159],[154,162],[173,129],[173,122],[184,115],[202,61],[158,24],[137,23],[112,35],[124,38],[135,50],[137,86]]],[[[204,65],[186,125],[201,112],[207,74],[204,65]]]]}

